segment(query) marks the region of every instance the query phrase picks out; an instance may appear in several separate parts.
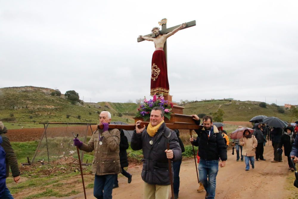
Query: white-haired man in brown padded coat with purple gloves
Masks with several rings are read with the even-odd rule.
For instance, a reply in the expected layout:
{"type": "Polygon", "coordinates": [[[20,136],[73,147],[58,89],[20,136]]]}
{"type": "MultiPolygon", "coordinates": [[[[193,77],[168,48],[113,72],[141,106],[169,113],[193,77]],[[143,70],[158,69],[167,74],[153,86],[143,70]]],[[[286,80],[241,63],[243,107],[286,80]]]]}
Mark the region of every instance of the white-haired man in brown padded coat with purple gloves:
{"type": "Polygon", "coordinates": [[[93,195],[95,198],[110,199],[112,198],[114,176],[120,173],[120,132],[118,129],[109,129],[110,112],[102,111],[99,115],[99,121],[100,124],[103,124],[103,129],[97,128],[88,144],[75,138],[74,145],[86,152],[94,150],[92,163],[92,172],[95,174],[93,195]]]}

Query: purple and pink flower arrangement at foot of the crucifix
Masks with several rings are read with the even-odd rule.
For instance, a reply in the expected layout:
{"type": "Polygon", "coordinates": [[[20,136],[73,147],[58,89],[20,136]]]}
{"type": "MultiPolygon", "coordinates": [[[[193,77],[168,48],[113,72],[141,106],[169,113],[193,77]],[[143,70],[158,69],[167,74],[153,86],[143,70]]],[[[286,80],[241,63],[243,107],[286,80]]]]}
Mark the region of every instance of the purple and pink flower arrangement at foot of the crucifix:
{"type": "Polygon", "coordinates": [[[164,100],[163,96],[156,97],[153,96],[153,99],[149,101],[144,97],[144,103],[137,109],[136,118],[143,118],[144,121],[150,119],[151,110],[154,107],[162,107],[164,109],[164,117],[170,120],[172,114],[173,103],[168,104],[167,100],[164,100]]]}

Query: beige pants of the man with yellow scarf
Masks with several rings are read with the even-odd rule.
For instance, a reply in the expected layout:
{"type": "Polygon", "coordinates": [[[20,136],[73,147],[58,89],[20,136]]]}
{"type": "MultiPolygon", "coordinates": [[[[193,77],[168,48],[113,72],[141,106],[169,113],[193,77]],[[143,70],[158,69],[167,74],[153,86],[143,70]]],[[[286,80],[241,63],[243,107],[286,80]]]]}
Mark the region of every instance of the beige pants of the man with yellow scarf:
{"type": "Polygon", "coordinates": [[[171,185],[148,184],[144,182],[144,199],[168,199],[171,185]]]}

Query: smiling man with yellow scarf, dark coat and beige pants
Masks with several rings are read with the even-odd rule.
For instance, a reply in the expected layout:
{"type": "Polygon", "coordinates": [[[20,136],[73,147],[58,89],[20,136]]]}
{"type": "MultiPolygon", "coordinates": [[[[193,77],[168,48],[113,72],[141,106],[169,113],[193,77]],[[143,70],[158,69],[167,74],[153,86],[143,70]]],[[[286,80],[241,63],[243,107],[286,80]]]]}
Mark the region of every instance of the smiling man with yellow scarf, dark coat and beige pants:
{"type": "MultiPolygon", "coordinates": [[[[142,180],[144,181],[144,199],[167,199],[170,191],[169,170],[173,173],[173,162],[169,169],[168,159],[181,159],[181,148],[175,132],[164,123],[164,109],[154,107],[150,114],[150,123],[145,128],[139,127],[141,121],[136,122],[136,129],[131,138],[131,149],[143,150],[142,180]],[[167,150],[167,143],[170,149],[167,150]]],[[[174,195],[178,198],[178,195],[174,195]]]]}

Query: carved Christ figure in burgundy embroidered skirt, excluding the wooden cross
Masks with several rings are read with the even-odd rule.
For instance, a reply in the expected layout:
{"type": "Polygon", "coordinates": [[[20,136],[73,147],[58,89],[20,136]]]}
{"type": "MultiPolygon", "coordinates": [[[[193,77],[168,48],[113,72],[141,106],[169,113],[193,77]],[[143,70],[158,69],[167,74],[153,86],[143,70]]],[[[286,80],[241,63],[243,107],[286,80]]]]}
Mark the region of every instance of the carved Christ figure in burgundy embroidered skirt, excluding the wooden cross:
{"type": "Polygon", "coordinates": [[[162,34],[158,27],[154,27],[151,32],[155,34],[154,38],[144,37],[142,35],[139,38],[153,41],[155,51],[152,55],[151,62],[151,86],[150,95],[168,95],[170,92],[169,81],[167,78],[167,61],[164,54],[164,43],[167,38],[177,33],[179,30],[186,27],[186,23],[181,24],[178,28],[167,34],[162,34]]]}

